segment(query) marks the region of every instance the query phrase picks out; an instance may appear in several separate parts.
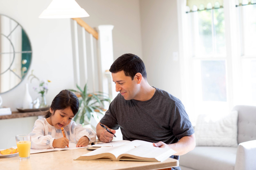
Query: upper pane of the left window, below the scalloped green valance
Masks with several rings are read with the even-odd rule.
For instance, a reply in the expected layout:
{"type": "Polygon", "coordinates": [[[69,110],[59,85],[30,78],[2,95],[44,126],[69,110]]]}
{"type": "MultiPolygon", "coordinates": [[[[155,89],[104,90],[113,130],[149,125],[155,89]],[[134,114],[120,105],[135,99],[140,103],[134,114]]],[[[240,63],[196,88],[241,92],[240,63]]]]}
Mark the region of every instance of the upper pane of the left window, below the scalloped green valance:
{"type": "Polygon", "coordinates": [[[223,8],[188,13],[194,19],[196,57],[225,56],[225,22],[223,8]]]}

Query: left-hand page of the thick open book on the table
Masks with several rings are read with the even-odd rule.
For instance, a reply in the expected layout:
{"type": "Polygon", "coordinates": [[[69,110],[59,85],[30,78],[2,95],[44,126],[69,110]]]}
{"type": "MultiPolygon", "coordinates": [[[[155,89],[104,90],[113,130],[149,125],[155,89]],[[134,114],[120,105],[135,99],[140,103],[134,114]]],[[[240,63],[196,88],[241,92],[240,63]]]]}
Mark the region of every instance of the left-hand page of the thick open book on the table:
{"type": "Polygon", "coordinates": [[[92,152],[86,153],[86,154],[82,155],[81,157],[100,155],[100,154],[102,154],[102,156],[104,156],[104,153],[111,153],[117,158],[120,154],[127,152],[133,148],[134,148],[134,146],[132,146],[132,145],[121,145],[121,146],[115,146],[115,147],[101,147],[92,152]]]}

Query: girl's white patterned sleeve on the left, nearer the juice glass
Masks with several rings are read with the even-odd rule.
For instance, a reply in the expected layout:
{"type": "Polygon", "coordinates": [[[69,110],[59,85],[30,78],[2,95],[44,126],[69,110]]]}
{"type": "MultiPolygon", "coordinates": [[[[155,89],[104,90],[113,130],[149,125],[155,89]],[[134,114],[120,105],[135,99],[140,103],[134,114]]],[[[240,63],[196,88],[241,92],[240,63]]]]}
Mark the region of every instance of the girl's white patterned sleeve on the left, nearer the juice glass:
{"type": "Polygon", "coordinates": [[[31,149],[53,148],[52,142],[55,138],[53,138],[51,135],[44,136],[44,132],[44,120],[37,119],[32,132],[29,133],[31,136],[31,149]]]}

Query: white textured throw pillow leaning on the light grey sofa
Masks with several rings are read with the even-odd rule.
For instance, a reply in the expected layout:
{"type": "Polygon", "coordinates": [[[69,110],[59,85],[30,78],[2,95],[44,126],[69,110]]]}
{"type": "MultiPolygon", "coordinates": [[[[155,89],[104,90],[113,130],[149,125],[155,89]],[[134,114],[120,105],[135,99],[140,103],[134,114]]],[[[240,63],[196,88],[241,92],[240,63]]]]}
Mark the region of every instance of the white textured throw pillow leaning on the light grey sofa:
{"type": "Polygon", "coordinates": [[[197,146],[237,147],[237,111],[226,116],[199,115],[195,136],[197,146]]]}

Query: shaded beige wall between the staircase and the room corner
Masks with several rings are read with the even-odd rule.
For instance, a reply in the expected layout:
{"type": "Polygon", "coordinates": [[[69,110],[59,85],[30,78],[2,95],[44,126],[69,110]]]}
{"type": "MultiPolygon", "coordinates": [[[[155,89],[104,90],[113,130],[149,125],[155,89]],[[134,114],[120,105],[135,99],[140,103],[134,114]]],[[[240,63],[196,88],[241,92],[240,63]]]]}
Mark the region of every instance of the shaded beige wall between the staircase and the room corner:
{"type": "Polygon", "coordinates": [[[114,60],[125,53],[142,56],[139,0],[76,0],[91,27],[113,25],[114,60]]]}

